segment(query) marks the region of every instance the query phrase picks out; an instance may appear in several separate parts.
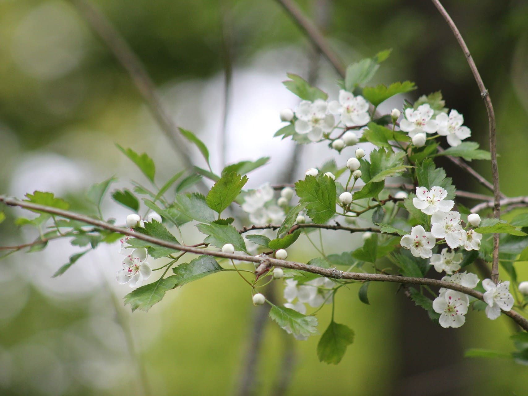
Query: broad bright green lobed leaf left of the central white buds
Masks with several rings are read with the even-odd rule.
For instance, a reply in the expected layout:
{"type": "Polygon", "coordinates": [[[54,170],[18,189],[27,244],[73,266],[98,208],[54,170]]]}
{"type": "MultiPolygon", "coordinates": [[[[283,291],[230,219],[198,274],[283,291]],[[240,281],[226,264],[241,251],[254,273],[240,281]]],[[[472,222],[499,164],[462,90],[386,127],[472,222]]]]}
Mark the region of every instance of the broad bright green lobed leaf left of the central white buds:
{"type": "Polygon", "coordinates": [[[306,205],[307,214],[314,223],[322,224],[332,218],[336,201],[332,178],[306,176],[295,183],[295,191],[300,198],[299,203],[306,205]]]}

